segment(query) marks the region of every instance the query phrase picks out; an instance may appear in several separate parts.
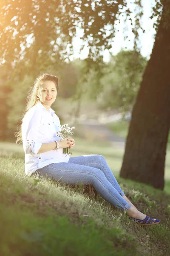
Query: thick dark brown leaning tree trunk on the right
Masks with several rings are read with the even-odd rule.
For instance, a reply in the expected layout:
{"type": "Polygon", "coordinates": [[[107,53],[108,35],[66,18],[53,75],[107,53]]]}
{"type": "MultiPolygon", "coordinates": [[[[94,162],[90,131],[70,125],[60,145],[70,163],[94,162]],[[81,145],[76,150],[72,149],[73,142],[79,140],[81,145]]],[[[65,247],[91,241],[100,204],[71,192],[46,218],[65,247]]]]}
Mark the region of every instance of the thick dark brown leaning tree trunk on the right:
{"type": "MultiPolygon", "coordinates": [[[[167,1],[168,2],[168,1],[167,1]]],[[[170,129],[170,5],[164,6],[153,51],[132,111],[120,176],[164,189],[170,129]]]]}

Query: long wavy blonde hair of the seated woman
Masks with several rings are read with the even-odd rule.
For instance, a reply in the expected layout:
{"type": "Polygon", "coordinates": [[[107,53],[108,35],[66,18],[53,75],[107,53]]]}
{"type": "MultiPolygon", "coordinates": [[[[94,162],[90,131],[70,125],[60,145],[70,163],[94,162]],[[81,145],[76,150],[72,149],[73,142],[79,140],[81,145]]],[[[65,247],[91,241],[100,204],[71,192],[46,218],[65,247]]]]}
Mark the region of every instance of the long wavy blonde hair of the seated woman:
{"type": "MultiPolygon", "coordinates": [[[[57,92],[59,90],[59,79],[57,78],[57,76],[53,76],[47,73],[42,73],[40,74],[40,76],[37,77],[37,79],[35,79],[33,86],[31,87],[31,89],[28,91],[28,95],[27,95],[27,104],[26,104],[26,108],[23,112],[23,115],[21,116],[20,120],[22,121],[24,116],[26,115],[26,113],[28,112],[28,110],[30,108],[32,108],[39,100],[37,99],[37,93],[40,90],[42,84],[45,81],[53,81],[54,84],[56,85],[56,89],[57,92]]],[[[15,133],[15,137],[17,137],[16,143],[22,143],[22,127],[21,125],[18,128],[18,131],[15,133]]]]}

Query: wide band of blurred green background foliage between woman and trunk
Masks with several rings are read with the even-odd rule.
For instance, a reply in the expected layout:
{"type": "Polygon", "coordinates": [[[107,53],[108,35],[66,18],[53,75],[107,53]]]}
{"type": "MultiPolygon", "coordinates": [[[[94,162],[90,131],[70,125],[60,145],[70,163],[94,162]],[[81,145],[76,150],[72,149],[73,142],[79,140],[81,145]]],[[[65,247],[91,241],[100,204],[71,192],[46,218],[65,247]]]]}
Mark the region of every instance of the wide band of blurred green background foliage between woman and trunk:
{"type": "Polygon", "coordinates": [[[134,104],[147,61],[139,52],[122,50],[108,64],[91,63],[91,68],[85,60],[76,60],[74,64],[79,70],[75,101],[88,99],[96,101],[102,110],[123,112],[134,104]]]}

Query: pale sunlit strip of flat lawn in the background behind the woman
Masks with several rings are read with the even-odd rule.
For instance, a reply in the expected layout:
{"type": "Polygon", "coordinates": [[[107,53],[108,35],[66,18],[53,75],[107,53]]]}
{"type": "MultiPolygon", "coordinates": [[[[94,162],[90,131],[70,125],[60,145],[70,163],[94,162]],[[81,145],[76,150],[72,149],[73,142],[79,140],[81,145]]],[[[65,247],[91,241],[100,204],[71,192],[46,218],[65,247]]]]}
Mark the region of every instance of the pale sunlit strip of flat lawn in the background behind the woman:
{"type": "MultiPolygon", "coordinates": [[[[124,149],[113,147],[113,145],[109,142],[103,143],[96,141],[94,143],[94,141],[88,141],[78,137],[76,137],[75,140],[76,146],[75,148],[72,148],[73,157],[85,154],[101,154],[105,157],[114,175],[119,176],[124,149]]],[[[23,147],[22,145],[16,145],[15,143],[1,142],[0,155],[24,158],[23,147]]],[[[170,150],[167,150],[166,154],[164,191],[170,193],[170,150]]]]}

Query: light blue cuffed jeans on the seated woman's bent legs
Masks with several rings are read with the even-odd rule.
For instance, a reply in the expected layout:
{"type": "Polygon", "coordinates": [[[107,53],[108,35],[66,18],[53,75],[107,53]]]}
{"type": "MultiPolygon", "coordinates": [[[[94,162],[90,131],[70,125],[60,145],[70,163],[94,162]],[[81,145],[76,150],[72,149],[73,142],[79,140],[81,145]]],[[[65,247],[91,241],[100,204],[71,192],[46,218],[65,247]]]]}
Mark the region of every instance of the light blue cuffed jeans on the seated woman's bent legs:
{"type": "Polygon", "coordinates": [[[125,194],[102,155],[70,157],[68,163],[51,163],[33,174],[37,173],[47,178],[53,177],[60,183],[93,185],[99,195],[113,206],[122,210],[131,207],[122,198],[125,194]]]}

